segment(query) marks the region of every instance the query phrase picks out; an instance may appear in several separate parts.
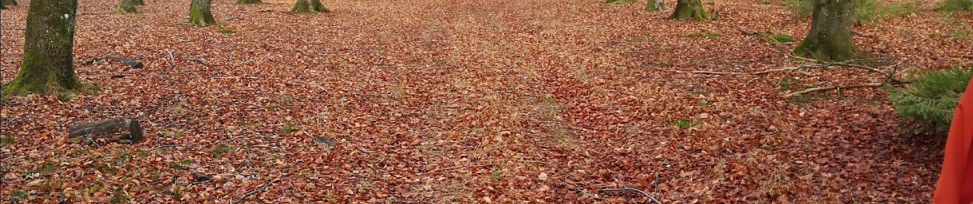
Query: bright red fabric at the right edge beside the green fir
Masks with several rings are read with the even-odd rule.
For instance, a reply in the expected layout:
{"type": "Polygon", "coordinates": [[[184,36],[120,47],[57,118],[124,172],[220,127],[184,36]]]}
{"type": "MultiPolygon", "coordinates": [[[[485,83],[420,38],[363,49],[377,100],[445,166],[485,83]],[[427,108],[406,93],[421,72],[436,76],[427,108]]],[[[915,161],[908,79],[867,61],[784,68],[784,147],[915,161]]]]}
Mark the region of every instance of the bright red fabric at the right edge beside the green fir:
{"type": "Polygon", "coordinates": [[[946,138],[933,204],[973,204],[973,80],[966,86],[946,138]]]}

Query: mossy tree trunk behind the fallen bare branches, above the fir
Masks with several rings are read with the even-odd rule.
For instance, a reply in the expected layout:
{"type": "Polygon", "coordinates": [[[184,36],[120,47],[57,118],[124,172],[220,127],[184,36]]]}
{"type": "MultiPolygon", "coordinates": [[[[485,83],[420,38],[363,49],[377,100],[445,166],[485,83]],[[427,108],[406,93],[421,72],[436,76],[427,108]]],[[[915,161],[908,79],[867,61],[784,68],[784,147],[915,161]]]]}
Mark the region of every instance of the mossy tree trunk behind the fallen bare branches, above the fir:
{"type": "Polygon", "coordinates": [[[794,54],[818,61],[846,61],[854,58],[851,44],[851,15],[854,1],[814,0],[811,31],[794,54]]]}

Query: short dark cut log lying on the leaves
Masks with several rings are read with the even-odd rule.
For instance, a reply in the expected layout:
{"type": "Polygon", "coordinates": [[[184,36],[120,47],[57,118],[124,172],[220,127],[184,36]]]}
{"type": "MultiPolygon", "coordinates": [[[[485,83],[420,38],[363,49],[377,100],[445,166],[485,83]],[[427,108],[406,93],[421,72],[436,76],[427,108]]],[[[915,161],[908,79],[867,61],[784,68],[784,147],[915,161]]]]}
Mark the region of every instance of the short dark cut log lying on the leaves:
{"type": "Polygon", "coordinates": [[[68,127],[68,138],[92,134],[120,143],[134,143],[142,140],[142,126],[136,120],[116,118],[76,124],[68,127]]]}

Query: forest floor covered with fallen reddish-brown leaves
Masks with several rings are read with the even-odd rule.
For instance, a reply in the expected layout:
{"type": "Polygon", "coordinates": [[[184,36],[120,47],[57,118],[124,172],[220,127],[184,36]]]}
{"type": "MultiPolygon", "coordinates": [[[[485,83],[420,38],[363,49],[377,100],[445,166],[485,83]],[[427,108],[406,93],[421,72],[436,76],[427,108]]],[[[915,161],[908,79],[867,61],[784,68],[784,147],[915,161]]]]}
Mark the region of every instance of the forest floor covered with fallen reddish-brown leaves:
{"type": "MultiPolygon", "coordinates": [[[[924,203],[942,160],[939,142],[900,133],[882,89],[783,96],[874,74],[677,73],[794,66],[796,43],[643,1],[325,0],[335,13],[317,15],[233,2],[199,28],[185,0],[136,15],[80,1],[75,68],[97,89],[4,104],[0,203],[652,202],[597,190],[619,188],[666,204],[924,203]],[[109,54],[145,66],[82,63],[109,54]],[[65,138],[116,117],[143,121],[146,140],[65,138]]],[[[0,18],[3,81],[20,64],[20,3],[0,18]]],[[[802,39],[809,22],[781,3],[705,7],[802,39]]],[[[883,69],[973,61],[973,15],[934,7],[857,25],[854,41],[883,69]]]]}

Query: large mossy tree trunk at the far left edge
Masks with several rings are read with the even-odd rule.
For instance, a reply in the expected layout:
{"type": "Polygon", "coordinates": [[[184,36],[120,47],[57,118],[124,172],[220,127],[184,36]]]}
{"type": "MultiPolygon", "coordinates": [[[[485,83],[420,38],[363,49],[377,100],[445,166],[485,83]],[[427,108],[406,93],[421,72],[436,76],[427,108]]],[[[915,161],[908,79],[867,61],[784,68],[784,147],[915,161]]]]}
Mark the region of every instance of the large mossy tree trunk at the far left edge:
{"type": "Polygon", "coordinates": [[[31,0],[23,58],[3,94],[50,93],[81,88],[72,67],[77,0],[31,0]]]}

